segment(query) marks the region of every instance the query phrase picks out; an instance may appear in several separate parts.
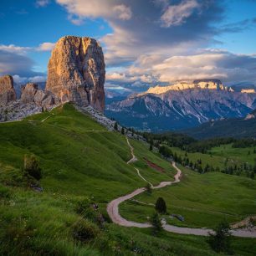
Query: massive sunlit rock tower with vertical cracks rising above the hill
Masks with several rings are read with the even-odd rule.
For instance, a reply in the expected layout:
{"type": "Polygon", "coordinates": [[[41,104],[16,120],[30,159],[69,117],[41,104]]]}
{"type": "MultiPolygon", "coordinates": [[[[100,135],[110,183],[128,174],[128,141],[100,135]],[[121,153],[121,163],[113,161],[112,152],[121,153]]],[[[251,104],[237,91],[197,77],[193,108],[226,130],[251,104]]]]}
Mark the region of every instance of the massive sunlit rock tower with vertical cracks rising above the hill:
{"type": "Polygon", "coordinates": [[[66,36],[56,44],[48,64],[46,90],[61,102],[105,107],[105,62],[93,38],[66,36]]]}

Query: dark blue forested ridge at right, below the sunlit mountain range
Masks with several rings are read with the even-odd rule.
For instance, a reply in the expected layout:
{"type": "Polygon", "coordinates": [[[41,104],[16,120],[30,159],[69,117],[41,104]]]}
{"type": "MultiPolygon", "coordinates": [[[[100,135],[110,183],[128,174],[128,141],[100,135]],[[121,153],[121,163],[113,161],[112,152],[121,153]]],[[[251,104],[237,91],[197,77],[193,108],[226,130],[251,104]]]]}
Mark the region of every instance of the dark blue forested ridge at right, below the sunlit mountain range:
{"type": "Polygon", "coordinates": [[[199,140],[215,137],[256,138],[256,110],[253,110],[245,118],[212,120],[184,131],[184,133],[199,140]]]}

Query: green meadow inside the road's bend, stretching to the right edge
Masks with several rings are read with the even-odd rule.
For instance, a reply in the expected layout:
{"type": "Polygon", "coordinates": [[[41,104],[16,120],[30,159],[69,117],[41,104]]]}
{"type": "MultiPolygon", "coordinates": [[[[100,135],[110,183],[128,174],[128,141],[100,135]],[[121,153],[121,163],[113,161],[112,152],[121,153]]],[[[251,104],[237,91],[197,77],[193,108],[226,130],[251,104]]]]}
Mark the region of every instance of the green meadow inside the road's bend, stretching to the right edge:
{"type": "Polygon", "coordinates": [[[166,221],[177,226],[192,228],[214,228],[223,218],[236,223],[256,212],[256,182],[246,177],[229,176],[220,172],[208,172],[203,175],[182,169],[182,182],[151,195],[143,193],[121,204],[122,215],[131,220],[146,222],[155,211],[157,197],[166,201],[166,221]],[[193,184],[193,185],[192,185],[193,184]],[[149,205],[141,204],[146,202],[149,205]],[[184,222],[170,218],[170,214],[179,214],[184,222]]]}

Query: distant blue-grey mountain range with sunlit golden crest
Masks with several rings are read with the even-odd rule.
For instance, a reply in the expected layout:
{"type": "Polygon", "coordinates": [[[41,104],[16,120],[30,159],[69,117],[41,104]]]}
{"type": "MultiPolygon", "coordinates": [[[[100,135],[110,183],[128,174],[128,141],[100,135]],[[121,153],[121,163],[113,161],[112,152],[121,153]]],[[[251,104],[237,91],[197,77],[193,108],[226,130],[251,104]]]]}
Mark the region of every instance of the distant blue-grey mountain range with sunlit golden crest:
{"type": "Polygon", "coordinates": [[[137,130],[177,131],[209,120],[242,118],[256,108],[256,92],[224,86],[218,79],[152,87],[105,106],[105,115],[137,130]]]}

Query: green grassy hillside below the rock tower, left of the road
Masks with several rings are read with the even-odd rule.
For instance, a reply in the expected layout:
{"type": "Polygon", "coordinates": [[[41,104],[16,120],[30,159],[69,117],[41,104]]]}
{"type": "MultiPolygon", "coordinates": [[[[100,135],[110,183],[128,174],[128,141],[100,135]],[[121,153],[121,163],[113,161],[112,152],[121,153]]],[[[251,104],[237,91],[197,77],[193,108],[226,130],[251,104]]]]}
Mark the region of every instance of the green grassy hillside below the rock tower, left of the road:
{"type": "MultiPolygon", "coordinates": [[[[131,144],[139,157],[134,166],[148,181],[156,184],[172,179],[170,163],[141,142],[131,144]],[[151,168],[148,161],[164,171],[151,168]]],[[[206,238],[166,232],[152,237],[151,229],[122,228],[109,222],[107,202],[146,185],[133,166],[126,164],[130,158],[125,136],[107,131],[72,105],[0,124],[0,255],[216,255],[206,238]],[[44,192],[29,187],[23,176],[25,154],[38,158],[43,169],[38,186],[44,192]],[[88,201],[99,205],[104,228],[90,207],[86,205],[85,212],[78,210],[88,201]],[[80,230],[89,231],[92,237],[78,237],[80,230]]],[[[192,183],[188,180],[185,185],[192,183]]],[[[250,190],[239,191],[248,192],[246,207],[250,190]]],[[[244,214],[250,209],[244,209],[244,214]]],[[[253,239],[233,241],[237,254],[250,255],[253,239]]]]}

